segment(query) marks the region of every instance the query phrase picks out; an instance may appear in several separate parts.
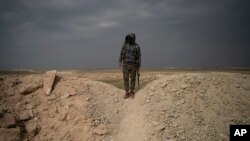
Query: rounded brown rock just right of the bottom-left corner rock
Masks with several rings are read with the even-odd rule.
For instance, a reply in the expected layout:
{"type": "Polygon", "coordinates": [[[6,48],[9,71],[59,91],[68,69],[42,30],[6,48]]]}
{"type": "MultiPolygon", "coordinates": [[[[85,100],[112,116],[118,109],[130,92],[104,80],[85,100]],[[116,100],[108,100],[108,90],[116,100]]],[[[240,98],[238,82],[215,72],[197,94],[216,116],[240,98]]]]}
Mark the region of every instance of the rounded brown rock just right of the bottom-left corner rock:
{"type": "Polygon", "coordinates": [[[27,133],[29,135],[29,138],[32,139],[33,137],[35,137],[40,132],[41,127],[37,122],[29,121],[26,124],[26,130],[27,130],[27,133]]]}

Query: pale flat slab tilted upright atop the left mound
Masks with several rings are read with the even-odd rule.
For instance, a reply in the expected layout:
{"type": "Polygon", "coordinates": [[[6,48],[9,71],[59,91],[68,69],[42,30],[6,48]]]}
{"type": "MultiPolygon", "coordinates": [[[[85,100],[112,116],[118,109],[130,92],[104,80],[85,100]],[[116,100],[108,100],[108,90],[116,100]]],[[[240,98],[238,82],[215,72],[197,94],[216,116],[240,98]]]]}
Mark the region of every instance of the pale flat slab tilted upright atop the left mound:
{"type": "Polygon", "coordinates": [[[51,70],[51,71],[47,71],[44,74],[43,77],[43,89],[46,95],[50,95],[52,88],[53,88],[53,84],[54,84],[54,80],[56,77],[56,70],[51,70]]]}

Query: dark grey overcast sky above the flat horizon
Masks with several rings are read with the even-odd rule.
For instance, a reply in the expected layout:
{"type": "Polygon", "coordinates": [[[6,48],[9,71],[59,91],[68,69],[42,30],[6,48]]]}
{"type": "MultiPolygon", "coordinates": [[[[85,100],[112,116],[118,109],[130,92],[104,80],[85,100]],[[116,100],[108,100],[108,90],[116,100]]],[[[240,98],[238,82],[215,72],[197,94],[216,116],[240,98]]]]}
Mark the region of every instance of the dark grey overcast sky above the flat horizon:
{"type": "Polygon", "coordinates": [[[0,69],[250,67],[249,0],[1,0],[0,69]]]}

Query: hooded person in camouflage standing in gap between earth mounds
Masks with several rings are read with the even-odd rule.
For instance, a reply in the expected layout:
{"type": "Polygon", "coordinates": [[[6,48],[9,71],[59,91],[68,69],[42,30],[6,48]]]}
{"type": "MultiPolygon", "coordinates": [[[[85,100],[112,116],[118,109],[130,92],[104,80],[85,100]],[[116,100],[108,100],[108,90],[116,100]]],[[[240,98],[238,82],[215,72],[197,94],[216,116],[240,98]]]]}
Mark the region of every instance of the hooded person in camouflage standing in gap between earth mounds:
{"type": "Polygon", "coordinates": [[[126,91],[124,99],[134,98],[136,72],[139,71],[141,66],[140,46],[135,42],[135,38],[134,33],[128,34],[125,37],[120,53],[119,65],[123,67],[123,80],[126,91]]]}

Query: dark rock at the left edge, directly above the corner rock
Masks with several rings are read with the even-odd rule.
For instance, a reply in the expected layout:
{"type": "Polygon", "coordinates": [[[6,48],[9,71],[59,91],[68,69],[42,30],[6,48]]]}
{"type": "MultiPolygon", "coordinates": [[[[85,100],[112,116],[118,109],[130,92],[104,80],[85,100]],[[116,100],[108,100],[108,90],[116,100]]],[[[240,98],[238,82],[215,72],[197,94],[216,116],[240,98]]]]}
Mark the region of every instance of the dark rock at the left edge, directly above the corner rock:
{"type": "Polygon", "coordinates": [[[16,118],[14,115],[5,113],[2,118],[0,118],[0,127],[12,128],[16,126],[16,118]]]}

